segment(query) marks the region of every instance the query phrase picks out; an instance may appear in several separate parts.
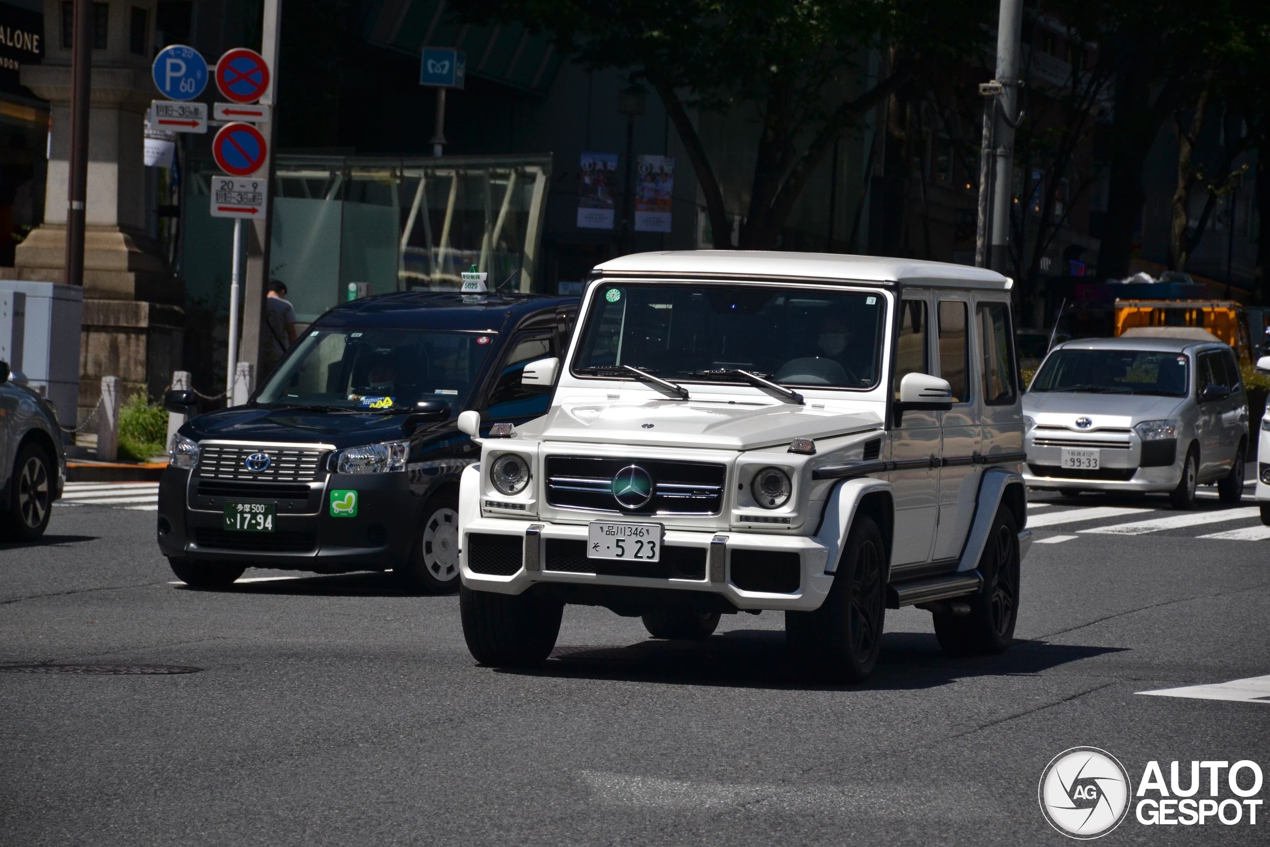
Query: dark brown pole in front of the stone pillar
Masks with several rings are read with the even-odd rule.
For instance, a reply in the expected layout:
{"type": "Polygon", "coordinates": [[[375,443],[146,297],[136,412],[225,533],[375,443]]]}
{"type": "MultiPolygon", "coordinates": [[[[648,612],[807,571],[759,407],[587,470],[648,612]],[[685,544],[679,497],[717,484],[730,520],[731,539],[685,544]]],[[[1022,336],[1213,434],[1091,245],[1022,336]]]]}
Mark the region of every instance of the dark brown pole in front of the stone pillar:
{"type": "Polygon", "coordinates": [[[93,89],[93,4],[75,0],[71,41],[71,155],[66,190],[66,284],[84,286],[88,116],[93,89]]]}

